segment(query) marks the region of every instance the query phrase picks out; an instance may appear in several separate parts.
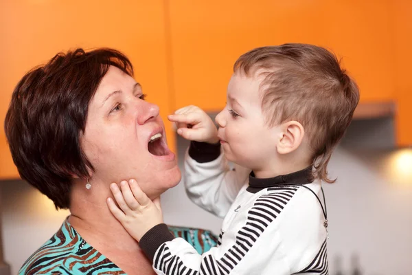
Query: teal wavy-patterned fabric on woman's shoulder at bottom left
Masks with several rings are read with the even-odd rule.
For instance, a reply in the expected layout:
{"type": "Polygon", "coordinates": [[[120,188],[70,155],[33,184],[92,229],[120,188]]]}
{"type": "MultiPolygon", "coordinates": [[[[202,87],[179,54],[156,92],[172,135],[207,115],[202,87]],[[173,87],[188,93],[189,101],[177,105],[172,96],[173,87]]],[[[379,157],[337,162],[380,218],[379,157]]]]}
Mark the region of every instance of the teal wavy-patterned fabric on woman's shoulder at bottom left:
{"type": "Polygon", "coordinates": [[[93,274],[95,270],[124,274],[84,241],[66,220],[58,232],[25,261],[19,274],[93,274]]]}

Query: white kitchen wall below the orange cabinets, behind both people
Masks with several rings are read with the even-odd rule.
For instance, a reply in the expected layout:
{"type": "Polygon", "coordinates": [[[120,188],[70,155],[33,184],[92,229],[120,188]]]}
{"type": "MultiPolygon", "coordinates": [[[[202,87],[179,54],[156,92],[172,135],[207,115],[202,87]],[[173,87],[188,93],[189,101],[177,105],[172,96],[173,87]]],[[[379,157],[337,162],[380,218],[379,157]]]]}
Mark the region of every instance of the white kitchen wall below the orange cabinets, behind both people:
{"type": "MultiPolygon", "coordinates": [[[[373,131],[367,134],[370,132],[373,131]]],[[[393,174],[396,168],[391,165],[396,162],[396,151],[388,151],[385,146],[379,150],[359,149],[354,138],[364,140],[364,136],[351,137],[352,142],[343,142],[337,148],[330,162],[330,174],[339,182],[324,188],[330,221],[330,274],[335,274],[339,261],[343,274],[351,274],[346,272],[352,270],[352,258],[357,257],[364,275],[410,275],[411,173],[393,174]],[[350,149],[347,144],[351,144],[350,149]]],[[[181,153],[186,145],[179,140],[181,153]]],[[[412,159],[410,163],[404,159],[412,171],[412,159]]],[[[68,212],[54,210],[51,201],[23,181],[0,184],[5,261],[16,274],[25,259],[56,232],[68,212]]],[[[221,220],[194,206],[183,185],[165,192],[162,204],[166,223],[218,233],[221,220]]]]}

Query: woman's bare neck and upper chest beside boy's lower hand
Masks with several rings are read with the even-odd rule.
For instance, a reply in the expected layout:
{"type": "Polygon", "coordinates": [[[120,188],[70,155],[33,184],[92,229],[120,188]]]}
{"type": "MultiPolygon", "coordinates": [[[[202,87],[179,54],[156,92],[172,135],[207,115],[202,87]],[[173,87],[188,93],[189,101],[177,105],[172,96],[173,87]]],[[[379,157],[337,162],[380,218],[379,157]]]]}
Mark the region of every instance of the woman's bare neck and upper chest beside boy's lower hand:
{"type": "Polygon", "coordinates": [[[106,205],[108,186],[73,184],[69,223],[95,250],[130,275],[153,275],[152,264],[106,205]]]}

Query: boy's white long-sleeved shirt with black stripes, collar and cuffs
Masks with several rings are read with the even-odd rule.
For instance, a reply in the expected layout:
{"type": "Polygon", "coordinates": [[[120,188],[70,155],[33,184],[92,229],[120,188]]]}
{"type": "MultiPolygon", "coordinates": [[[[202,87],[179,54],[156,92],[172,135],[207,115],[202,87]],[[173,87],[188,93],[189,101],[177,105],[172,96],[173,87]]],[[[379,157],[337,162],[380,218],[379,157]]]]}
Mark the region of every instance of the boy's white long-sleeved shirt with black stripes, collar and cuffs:
{"type": "Polygon", "coordinates": [[[309,168],[257,179],[245,168],[229,169],[217,146],[193,147],[185,159],[185,187],[194,203],[225,217],[218,246],[200,255],[157,225],[141,239],[157,274],[328,274],[323,212],[301,188],[320,194],[309,168]]]}

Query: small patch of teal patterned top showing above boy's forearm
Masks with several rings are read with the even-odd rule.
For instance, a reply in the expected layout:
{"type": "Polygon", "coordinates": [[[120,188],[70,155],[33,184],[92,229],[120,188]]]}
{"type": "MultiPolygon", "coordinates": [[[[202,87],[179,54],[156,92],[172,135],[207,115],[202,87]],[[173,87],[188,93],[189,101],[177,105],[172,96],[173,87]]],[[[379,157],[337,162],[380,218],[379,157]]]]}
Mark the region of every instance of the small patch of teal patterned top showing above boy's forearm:
{"type": "Polygon", "coordinates": [[[218,237],[209,230],[200,228],[186,228],[169,225],[170,232],[176,238],[183,238],[190,243],[199,254],[203,254],[218,243],[218,237]]]}

